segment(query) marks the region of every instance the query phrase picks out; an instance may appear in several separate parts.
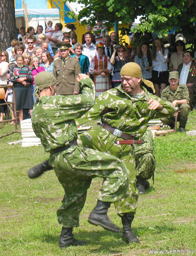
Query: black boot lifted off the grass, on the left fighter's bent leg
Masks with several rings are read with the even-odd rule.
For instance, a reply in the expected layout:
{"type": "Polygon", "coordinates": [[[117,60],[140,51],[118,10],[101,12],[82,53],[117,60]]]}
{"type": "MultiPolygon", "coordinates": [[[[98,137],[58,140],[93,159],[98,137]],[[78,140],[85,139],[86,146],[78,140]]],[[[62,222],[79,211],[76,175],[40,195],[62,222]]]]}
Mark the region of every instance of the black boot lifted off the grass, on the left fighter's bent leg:
{"type": "Polygon", "coordinates": [[[108,218],[107,212],[110,204],[111,203],[109,202],[98,200],[97,205],[93,211],[91,211],[91,214],[88,217],[88,222],[94,225],[100,225],[109,231],[120,232],[120,228],[112,223],[112,221],[110,221],[108,218]]]}

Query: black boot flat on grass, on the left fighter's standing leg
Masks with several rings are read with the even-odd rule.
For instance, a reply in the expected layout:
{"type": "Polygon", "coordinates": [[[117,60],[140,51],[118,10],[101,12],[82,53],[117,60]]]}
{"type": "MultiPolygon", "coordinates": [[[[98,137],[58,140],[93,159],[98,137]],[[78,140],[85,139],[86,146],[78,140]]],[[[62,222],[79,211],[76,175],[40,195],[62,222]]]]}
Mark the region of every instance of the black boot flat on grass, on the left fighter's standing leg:
{"type": "Polygon", "coordinates": [[[73,228],[62,228],[60,239],[58,242],[58,245],[61,249],[67,246],[84,246],[87,244],[84,240],[78,241],[77,239],[74,239],[72,231],[73,228]]]}

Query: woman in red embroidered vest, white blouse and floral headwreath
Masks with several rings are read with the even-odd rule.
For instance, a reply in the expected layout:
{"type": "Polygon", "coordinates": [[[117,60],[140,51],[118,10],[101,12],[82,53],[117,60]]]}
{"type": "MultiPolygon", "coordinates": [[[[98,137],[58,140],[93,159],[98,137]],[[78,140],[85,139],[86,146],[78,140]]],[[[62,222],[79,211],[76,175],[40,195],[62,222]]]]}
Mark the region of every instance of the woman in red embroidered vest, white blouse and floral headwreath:
{"type": "Polygon", "coordinates": [[[109,75],[113,68],[110,58],[104,55],[103,43],[97,45],[97,52],[98,55],[91,59],[89,66],[89,72],[94,76],[96,96],[112,88],[109,75]]]}

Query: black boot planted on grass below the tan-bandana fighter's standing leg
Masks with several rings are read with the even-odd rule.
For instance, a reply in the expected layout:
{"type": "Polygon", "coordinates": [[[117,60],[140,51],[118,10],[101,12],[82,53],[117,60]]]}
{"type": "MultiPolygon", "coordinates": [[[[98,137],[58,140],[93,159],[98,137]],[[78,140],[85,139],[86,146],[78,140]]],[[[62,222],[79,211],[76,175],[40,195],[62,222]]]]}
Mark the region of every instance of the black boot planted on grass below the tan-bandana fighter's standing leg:
{"type": "Polygon", "coordinates": [[[134,219],[134,215],[131,215],[131,214],[125,214],[125,216],[122,217],[122,225],[123,225],[122,239],[128,244],[131,242],[139,242],[139,239],[137,238],[137,236],[134,235],[132,232],[131,225],[132,225],[133,219],[134,219]]]}

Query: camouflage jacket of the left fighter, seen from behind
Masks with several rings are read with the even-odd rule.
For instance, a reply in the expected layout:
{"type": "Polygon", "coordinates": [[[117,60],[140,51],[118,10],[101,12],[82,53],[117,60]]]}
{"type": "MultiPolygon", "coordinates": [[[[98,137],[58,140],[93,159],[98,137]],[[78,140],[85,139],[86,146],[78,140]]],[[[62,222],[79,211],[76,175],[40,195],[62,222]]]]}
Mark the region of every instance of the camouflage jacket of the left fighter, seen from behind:
{"type": "Polygon", "coordinates": [[[74,119],[95,104],[95,85],[90,78],[81,80],[81,90],[78,95],[43,96],[34,104],[32,126],[46,152],[78,138],[74,119]]]}

